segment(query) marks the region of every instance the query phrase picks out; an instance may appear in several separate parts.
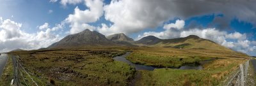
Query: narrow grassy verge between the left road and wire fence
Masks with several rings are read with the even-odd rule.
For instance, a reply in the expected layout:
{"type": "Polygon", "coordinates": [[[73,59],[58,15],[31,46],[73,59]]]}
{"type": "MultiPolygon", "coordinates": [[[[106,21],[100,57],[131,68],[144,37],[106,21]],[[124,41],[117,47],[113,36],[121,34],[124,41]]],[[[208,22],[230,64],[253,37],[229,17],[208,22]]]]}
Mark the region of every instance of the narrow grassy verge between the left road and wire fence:
{"type": "Polygon", "coordinates": [[[12,58],[8,55],[8,62],[4,68],[4,71],[1,75],[0,85],[10,85],[13,79],[13,65],[12,58]]]}

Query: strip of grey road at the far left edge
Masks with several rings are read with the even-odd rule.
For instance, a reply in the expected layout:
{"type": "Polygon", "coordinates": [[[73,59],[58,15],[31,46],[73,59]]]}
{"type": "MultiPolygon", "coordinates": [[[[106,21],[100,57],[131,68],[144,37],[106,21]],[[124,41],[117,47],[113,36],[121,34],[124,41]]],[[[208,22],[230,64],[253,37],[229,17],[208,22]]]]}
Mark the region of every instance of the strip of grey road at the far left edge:
{"type": "Polygon", "coordinates": [[[2,72],[4,70],[4,66],[8,60],[7,54],[1,54],[0,55],[0,77],[2,75],[2,72]]]}

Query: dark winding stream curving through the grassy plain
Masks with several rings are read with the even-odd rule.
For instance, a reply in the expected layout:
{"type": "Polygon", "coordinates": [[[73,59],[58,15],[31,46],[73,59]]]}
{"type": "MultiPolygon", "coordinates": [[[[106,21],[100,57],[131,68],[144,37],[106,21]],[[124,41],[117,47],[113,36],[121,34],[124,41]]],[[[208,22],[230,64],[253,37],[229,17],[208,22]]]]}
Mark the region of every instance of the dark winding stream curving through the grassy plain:
{"type": "MultiPolygon", "coordinates": [[[[131,54],[131,52],[127,52],[124,55],[114,57],[113,59],[115,59],[116,61],[126,62],[127,64],[130,64],[131,66],[134,66],[136,70],[149,70],[149,71],[153,71],[154,69],[161,69],[161,68],[157,68],[157,67],[153,67],[153,66],[145,66],[143,64],[134,64],[134,63],[132,63],[131,61],[128,61],[125,58],[129,54],[131,54]]],[[[204,62],[204,61],[202,61],[202,62],[204,62]]],[[[200,64],[198,64],[198,65],[188,64],[188,65],[185,65],[185,66],[181,66],[180,68],[173,68],[173,69],[203,69],[203,67],[200,64]]]]}

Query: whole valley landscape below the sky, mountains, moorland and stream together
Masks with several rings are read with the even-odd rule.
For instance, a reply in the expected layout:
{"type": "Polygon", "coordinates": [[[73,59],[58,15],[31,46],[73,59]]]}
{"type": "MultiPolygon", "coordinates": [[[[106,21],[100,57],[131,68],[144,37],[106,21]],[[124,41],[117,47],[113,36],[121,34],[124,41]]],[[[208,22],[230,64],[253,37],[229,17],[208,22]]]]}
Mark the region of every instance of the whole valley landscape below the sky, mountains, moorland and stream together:
{"type": "Polygon", "coordinates": [[[8,55],[20,65],[16,83],[21,85],[225,85],[250,58],[198,36],[133,41],[124,34],[105,38],[89,30],[48,48],[8,55]]]}

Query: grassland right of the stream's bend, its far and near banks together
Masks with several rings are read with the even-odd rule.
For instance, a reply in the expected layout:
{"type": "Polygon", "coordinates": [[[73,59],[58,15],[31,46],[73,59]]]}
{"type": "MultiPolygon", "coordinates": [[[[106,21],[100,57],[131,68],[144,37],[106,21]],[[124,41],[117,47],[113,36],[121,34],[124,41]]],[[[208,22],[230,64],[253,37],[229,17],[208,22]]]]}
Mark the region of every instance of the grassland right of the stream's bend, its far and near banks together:
{"type": "Polygon", "coordinates": [[[136,85],[222,85],[248,55],[225,50],[140,48],[127,57],[137,64],[160,67],[180,67],[184,64],[215,59],[202,70],[154,69],[140,70],[136,85]]]}

